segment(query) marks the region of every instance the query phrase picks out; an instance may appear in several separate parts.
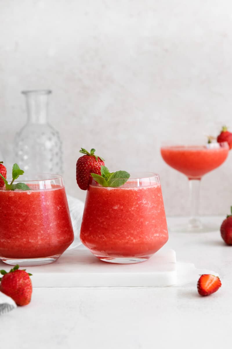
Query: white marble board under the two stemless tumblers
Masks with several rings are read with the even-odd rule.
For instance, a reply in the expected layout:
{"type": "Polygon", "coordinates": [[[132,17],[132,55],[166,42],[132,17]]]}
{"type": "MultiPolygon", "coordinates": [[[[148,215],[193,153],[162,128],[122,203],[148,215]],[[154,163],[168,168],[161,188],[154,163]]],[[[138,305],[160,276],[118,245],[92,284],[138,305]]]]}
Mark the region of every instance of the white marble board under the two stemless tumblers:
{"type": "Polygon", "coordinates": [[[166,249],[145,262],[127,265],[103,262],[86,249],[74,249],[54,263],[24,268],[33,274],[33,287],[164,287],[177,279],[176,253],[166,249]]]}

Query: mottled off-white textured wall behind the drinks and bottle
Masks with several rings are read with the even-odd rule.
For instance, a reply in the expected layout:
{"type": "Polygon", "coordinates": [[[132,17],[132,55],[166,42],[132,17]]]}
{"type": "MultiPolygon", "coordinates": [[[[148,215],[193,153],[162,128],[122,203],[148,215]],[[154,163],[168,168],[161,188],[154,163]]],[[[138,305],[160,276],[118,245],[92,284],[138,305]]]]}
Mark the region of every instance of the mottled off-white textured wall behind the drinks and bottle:
{"type": "MultiPolygon", "coordinates": [[[[230,0],[1,0],[0,149],[7,163],[26,121],[22,89],[50,88],[66,188],[82,146],[112,170],[160,174],[167,214],[186,213],[187,180],[161,141],[206,141],[232,129],[230,0]]],[[[232,155],[202,180],[201,212],[232,205],[232,155]]]]}

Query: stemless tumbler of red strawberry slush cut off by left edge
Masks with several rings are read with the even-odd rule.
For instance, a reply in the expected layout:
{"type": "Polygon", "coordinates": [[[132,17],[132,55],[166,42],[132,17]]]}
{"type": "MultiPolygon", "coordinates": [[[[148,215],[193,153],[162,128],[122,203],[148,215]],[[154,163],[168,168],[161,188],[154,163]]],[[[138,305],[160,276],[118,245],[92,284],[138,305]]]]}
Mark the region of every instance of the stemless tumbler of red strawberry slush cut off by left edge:
{"type": "Polygon", "coordinates": [[[17,182],[30,190],[0,188],[0,259],[21,266],[55,262],[74,239],[63,178],[33,174],[17,182]]]}

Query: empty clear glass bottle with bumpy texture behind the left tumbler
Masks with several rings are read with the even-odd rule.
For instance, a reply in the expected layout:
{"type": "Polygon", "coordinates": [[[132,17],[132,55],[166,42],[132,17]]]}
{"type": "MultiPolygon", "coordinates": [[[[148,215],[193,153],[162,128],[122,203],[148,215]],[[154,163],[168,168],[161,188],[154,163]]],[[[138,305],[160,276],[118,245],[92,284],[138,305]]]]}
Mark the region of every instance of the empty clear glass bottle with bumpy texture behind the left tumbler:
{"type": "Polygon", "coordinates": [[[62,174],[62,143],[48,123],[50,90],[22,91],[26,97],[27,123],[15,136],[16,159],[27,172],[62,174]]]}

